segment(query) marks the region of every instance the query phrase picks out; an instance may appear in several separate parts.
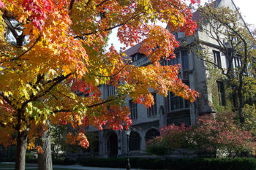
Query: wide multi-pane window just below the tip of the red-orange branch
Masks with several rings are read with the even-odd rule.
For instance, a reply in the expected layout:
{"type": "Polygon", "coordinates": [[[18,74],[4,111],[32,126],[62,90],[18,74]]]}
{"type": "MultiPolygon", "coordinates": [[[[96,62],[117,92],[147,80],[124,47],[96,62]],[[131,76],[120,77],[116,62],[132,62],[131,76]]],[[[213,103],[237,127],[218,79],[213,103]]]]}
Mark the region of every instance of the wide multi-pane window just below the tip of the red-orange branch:
{"type": "MultiPolygon", "coordinates": [[[[189,81],[184,83],[189,86],[189,81]]],[[[189,104],[189,101],[179,96],[175,96],[170,91],[168,92],[168,95],[165,98],[165,109],[167,110],[167,112],[172,112],[179,109],[187,109],[189,108],[189,104]]]]}

